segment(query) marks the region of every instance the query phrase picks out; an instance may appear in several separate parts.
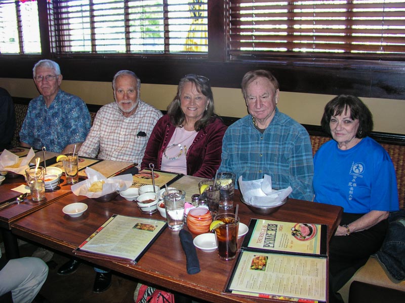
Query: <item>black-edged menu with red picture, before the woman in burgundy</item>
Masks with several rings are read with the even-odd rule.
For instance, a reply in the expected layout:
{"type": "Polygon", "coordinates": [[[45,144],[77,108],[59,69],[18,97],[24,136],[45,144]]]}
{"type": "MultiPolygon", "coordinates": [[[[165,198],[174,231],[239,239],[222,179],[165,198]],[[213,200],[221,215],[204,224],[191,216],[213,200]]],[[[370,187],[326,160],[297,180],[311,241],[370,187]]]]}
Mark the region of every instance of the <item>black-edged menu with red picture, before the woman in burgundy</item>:
{"type": "MultiPolygon", "coordinates": [[[[183,174],[153,170],[155,178],[155,185],[162,187],[165,184],[168,186],[181,178],[183,174]]],[[[142,185],[153,185],[152,171],[148,169],[141,170],[133,176],[133,183],[131,187],[141,187],[142,185]]]]}

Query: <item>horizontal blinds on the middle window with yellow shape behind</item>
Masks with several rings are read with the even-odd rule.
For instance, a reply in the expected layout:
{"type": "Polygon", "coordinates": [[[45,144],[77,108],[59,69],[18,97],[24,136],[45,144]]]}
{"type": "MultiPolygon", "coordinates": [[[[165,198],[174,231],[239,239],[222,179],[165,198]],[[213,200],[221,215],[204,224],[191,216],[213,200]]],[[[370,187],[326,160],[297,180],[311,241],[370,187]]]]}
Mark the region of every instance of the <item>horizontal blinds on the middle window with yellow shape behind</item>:
{"type": "Polygon", "coordinates": [[[60,53],[207,53],[207,0],[61,0],[60,53]]]}

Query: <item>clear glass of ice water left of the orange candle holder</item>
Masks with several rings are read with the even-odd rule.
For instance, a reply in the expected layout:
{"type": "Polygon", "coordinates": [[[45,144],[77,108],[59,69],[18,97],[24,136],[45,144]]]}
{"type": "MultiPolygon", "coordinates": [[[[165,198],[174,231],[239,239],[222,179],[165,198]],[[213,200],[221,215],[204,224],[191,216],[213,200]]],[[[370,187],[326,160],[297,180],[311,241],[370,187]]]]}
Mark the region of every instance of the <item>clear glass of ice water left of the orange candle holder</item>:
{"type": "Polygon", "coordinates": [[[180,230],[184,225],[184,203],[186,192],[180,189],[169,189],[163,193],[166,219],[171,230],[180,230]]]}

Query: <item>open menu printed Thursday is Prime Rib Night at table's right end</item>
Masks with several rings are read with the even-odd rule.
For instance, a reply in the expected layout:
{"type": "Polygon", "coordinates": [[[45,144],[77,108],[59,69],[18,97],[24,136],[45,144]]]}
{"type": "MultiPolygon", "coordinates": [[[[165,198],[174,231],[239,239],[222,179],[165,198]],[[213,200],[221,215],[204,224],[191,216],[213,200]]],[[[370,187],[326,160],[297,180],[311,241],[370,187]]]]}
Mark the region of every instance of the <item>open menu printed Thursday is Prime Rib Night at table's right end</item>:
{"type": "Polygon", "coordinates": [[[251,219],[224,292],[326,302],[327,241],[325,224],[251,219]]]}

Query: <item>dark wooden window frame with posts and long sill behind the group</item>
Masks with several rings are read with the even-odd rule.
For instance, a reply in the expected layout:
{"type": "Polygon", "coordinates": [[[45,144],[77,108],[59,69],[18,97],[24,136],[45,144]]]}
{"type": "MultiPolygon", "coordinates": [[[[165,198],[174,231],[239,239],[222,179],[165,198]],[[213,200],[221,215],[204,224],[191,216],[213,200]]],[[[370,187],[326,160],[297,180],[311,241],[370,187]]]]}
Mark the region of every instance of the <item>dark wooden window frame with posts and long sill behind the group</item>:
{"type": "MultiPolygon", "coordinates": [[[[242,76],[249,70],[268,69],[278,79],[280,90],[300,93],[337,95],[354,94],[405,100],[405,62],[346,59],[246,58],[229,60],[227,37],[229,16],[227,0],[209,0],[207,59],[179,59],[162,56],[138,57],[121,54],[55,56],[51,52],[50,32],[41,22],[43,54],[0,55],[0,77],[32,78],[32,67],[40,59],[52,59],[61,66],[66,80],[111,81],[120,69],[133,70],[142,83],[177,85],[188,73],[210,78],[214,87],[240,88],[242,76]],[[95,69],[97,67],[97,70],[95,69]]],[[[47,2],[38,1],[40,20],[48,20],[47,2]]]]}

